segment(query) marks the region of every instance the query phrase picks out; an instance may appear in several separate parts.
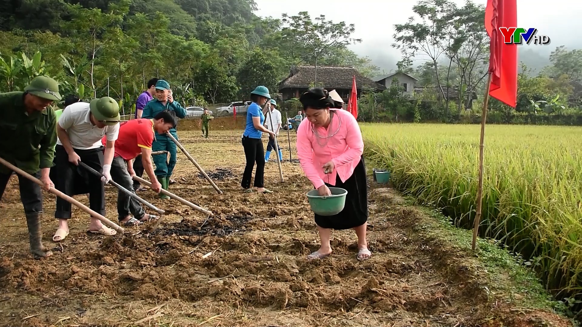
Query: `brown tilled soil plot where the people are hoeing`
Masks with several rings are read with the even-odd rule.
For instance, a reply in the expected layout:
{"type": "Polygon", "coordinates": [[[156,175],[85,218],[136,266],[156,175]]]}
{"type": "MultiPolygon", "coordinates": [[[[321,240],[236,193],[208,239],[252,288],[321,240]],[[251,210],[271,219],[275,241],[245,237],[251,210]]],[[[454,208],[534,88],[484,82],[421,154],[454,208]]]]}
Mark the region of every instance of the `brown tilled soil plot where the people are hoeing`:
{"type": "MultiPolygon", "coordinates": [[[[171,191],[217,218],[206,221],[145,191],[139,194],[169,213],[156,232],[128,228],[119,239],[88,235],[87,216],[76,209],[69,236],[55,244],[55,198],[47,194],[44,242],[55,255],[45,260],[28,253],[13,178],[0,203],[0,325],[569,326],[530,308],[527,298],[537,295],[516,289],[508,281],[511,271],[483,272],[489,267],[446,240],[455,234],[433,229],[438,223],[427,211],[373,183],[372,258],[358,262],[355,235],[342,231],[333,233],[331,258],[307,261],[318,237],[304,197],[310,183],[299,163],[283,162],[281,184],[271,160],[265,184],[276,193],[243,194],[240,133],[211,134],[205,141],[198,131],[182,131],[180,141],[219,177],[224,194],[217,195],[182,154],[171,191]]],[[[113,221],[115,201],[116,191],[108,187],[113,221]]]]}

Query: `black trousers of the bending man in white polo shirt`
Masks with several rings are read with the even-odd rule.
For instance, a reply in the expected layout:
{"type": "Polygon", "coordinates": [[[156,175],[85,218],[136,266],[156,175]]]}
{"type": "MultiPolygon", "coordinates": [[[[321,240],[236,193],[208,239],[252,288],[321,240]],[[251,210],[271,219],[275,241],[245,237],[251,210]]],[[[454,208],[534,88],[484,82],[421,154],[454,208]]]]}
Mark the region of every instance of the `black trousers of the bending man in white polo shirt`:
{"type": "MultiPolygon", "coordinates": [[[[87,166],[103,172],[104,147],[79,150],[74,149],[87,166]]],[[[105,189],[101,177],[93,175],[81,166],[69,162],[69,155],[62,145],[56,145],[55,166],[51,168],[51,180],[55,189],[72,197],[89,193],[89,208],[105,216],[105,189]]],[[[56,198],[55,218],[71,218],[71,204],[60,197],[56,198]]]]}

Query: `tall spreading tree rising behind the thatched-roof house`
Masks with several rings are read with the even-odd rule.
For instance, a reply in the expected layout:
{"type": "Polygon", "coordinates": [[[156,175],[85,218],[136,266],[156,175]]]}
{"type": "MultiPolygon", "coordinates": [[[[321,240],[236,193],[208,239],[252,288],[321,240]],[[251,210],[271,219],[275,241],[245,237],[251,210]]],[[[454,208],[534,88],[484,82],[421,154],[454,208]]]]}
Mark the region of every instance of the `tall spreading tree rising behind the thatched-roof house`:
{"type": "Polygon", "coordinates": [[[334,51],[345,49],[347,45],[361,42],[361,39],[352,38],[356,31],[354,24],[333,23],[327,20],[325,15],[316,17],[313,22],[308,12],[300,12],[296,16],[287,14],[282,16],[283,55],[290,61],[313,63],[316,67],[316,81],[318,60],[329,58],[334,51]]]}

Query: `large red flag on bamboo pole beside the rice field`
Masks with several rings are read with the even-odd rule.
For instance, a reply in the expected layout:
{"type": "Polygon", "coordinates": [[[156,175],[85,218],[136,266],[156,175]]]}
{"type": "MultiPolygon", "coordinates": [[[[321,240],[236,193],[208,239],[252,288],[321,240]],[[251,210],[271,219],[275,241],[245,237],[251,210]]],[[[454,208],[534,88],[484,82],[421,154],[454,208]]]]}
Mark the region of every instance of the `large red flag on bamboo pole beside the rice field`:
{"type": "Polygon", "coordinates": [[[517,45],[505,44],[499,27],[517,27],[516,0],[487,0],[485,29],[489,45],[489,95],[515,108],[517,102],[517,45]]]}

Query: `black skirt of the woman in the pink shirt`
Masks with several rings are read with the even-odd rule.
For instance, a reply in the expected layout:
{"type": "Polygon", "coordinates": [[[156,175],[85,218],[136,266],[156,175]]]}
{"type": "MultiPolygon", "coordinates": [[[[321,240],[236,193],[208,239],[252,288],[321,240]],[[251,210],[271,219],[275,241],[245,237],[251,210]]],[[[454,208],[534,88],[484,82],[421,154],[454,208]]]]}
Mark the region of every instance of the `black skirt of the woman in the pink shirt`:
{"type": "Polygon", "coordinates": [[[321,228],[351,229],[368,221],[368,184],[365,176],[364,157],[354,169],[352,176],[342,182],[339,175],[335,186],[325,183],[328,187],[340,187],[347,190],[346,205],[342,212],[333,216],[315,215],[315,223],[321,228]]]}

